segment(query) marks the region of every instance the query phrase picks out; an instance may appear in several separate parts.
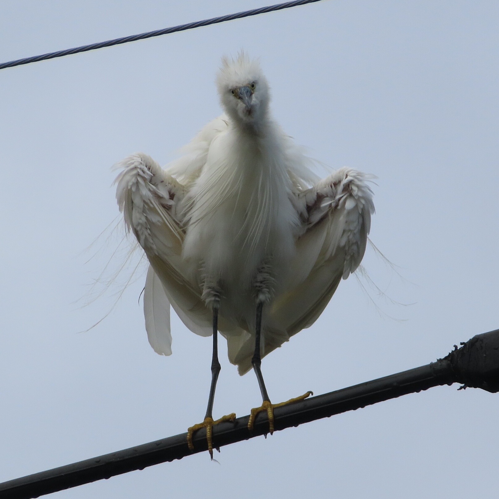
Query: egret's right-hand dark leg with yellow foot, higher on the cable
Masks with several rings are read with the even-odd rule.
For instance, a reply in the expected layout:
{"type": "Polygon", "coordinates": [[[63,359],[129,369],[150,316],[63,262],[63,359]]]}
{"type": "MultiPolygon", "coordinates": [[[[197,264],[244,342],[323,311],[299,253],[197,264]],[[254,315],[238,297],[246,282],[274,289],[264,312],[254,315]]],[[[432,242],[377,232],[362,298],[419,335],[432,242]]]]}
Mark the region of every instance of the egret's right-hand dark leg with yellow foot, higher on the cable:
{"type": "Polygon", "coordinates": [[[274,408],[285,406],[287,404],[292,404],[293,402],[298,402],[300,400],[306,399],[308,396],[313,395],[312,392],[307,392],[300,397],[290,399],[286,402],[281,402],[280,404],[272,404],[268,397],[267,389],[265,387],[265,382],[263,381],[263,375],[261,374],[261,314],[263,311],[263,304],[270,300],[270,289],[273,280],[268,272],[268,265],[264,265],[262,271],[258,273],[255,280],[255,287],[257,290],[256,297],[256,321],[255,321],[255,340],[254,340],[254,354],[251,358],[251,364],[253,365],[253,371],[258,380],[258,386],[260,387],[261,398],[263,400],[260,407],[255,407],[251,409],[250,420],[248,421],[248,429],[253,430],[254,419],[256,415],[260,412],[265,411],[268,416],[268,425],[270,435],[274,432],[274,408]]]}

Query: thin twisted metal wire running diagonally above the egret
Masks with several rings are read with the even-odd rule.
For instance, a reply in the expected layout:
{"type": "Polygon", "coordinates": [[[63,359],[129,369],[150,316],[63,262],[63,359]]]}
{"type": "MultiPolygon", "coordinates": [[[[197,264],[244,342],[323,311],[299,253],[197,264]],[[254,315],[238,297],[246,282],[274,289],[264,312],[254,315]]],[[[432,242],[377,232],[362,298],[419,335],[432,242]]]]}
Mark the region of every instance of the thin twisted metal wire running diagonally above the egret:
{"type": "Polygon", "coordinates": [[[90,45],[82,45],[81,47],[67,48],[66,50],[58,50],[57,52],[49,52],[41,55],[34,55],[32,57],[25,57],[23,59],[11,60],[0,64],[0,69],[6,67],[20,66],[22,64],[29,64],[31,62],[38,62],[40,60],[54,59],[55,57],[63,57],[64,55],[76,54],[79,52],[88,52],[97,48],[110,47],[112,45],[120,45],[128,43],[129,41],[143,40],[145,38],[152,38],[153,36],[160,36],[162,34],[175,33],[177,31],[186,31],[187,29],[194,29],[201,26],[208,26],[210,24],[218,24],[220,22],[231,21],[233,19],[241,19],[242,17],[249,17],[250,15],[263,14],[264,12],[273,12],[274,10],[282,10],[284,8],[296,7],[297,5],[305,5],[306,3],[315,3],[321,0],[297,0],[287,1],[284,3],[277,3],[275,5],[268,5],[266,7],[253,8],[243,12],[236,12],[235,14],[221,15],[219,17],[212,17],[211,19],[204,19],[202,21],[189,22],[187,24],[180,24],[164,29],[157,29],[155,31],[148,31],[146,33],[133,34],[130,36],[123,36],[113,40],[101,41],[99,43],[91,43],[90,45]]]}

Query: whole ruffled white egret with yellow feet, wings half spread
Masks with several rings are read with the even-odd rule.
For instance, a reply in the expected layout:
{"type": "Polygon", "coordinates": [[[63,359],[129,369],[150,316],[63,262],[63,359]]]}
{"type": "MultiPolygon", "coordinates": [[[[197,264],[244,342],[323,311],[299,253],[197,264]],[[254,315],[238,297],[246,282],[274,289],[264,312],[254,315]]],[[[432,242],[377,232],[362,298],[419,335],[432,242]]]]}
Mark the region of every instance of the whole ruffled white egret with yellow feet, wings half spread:
{"type": "MultiPolygon", "coordinates": [[[[225,113],[162,169],[143,153],[120,163],[117,200],[150,262],[144,292],[149,342],[171,354],[170,305],[201,336],[213,335],[205,421],[212,453],[218,331],[239,373],[254,369],[273,431],[261,358],[311,326],[364,255],[374,212],[369,176],[341,168],[319,179],[273,120],[257,60],[222,59],[225,113]]],[[[311,392],[303,395],[307,397],[311,392]]],[[[298,398],[300,399],[300,398],[298,398]]],[[[297,399],[292,399],[297,400],[297,399]]]]}

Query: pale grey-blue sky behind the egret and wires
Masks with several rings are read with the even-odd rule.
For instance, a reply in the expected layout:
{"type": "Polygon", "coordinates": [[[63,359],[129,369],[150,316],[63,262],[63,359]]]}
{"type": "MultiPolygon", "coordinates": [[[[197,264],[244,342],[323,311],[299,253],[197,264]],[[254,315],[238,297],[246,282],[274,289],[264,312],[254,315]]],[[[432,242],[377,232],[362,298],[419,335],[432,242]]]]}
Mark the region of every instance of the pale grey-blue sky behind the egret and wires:
{"type": "MultiPolygon", "coordinates": [[[[0,2],[0,61],[261,6],[0,2]]],[[[138,297],[80,308],[113,252],[84,249],[115,218],[129,153],[174,157],[220,114],[223,54],[260,57],[273,113],[332,168],[374,173],[374,281],[342,282],[320,319],[266,357],[278,402],[417,367],[499,327],[498,55],[493,1],[328,0],[0,71],[0,480],[186,431],[205,413],[211,340],[175,317],[150,348],[138,297]],[[376,308],[381,309],[381,312],[376,308]],[[387,316],[395,317],[394,320],[387,316]]],[[[100,245],[100,246],[99,246],[100,245]]],[[[116,289],[112,290],[116,291],[116,289]]],[[[214,416],[260,397],[221,346],[214,416]]],[[[499,396],[434,388],[57,498],[496,498],[499,396]]]]}

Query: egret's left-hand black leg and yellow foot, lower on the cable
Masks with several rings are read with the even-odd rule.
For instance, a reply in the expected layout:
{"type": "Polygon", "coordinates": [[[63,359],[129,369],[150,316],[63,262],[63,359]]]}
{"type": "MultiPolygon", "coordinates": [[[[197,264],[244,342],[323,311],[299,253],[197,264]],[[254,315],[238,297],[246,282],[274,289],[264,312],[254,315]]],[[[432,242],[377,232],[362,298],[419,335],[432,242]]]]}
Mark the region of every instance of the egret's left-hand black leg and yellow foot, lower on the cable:
{"type": "Polygon", "coordinates": [[[220,374],[221,366],[218,360],[218,311],[220,306],[220,298],[210,297],[212,309],[213,309],[213,355],[212,355],[212,383],[210,385],[210,395],[208,396],[208,407],[206,409],[206,416],[203,423],[191,426],[187,430],[187,444],[191,451],[194,451],[194,444],[192,442],[192,436],[195,431],[206,428],[206,439],[208,441],[208,452],[210,453],[211,459],[213,459],[213,440],[212,431],[213,426],[218,425],[224,421],[234,421],[236,419],[236,414],[232,413],[227,416],[213,421],[213,402],[215,400],[215,389],[217,388],[217,381],[220,374]]]}

